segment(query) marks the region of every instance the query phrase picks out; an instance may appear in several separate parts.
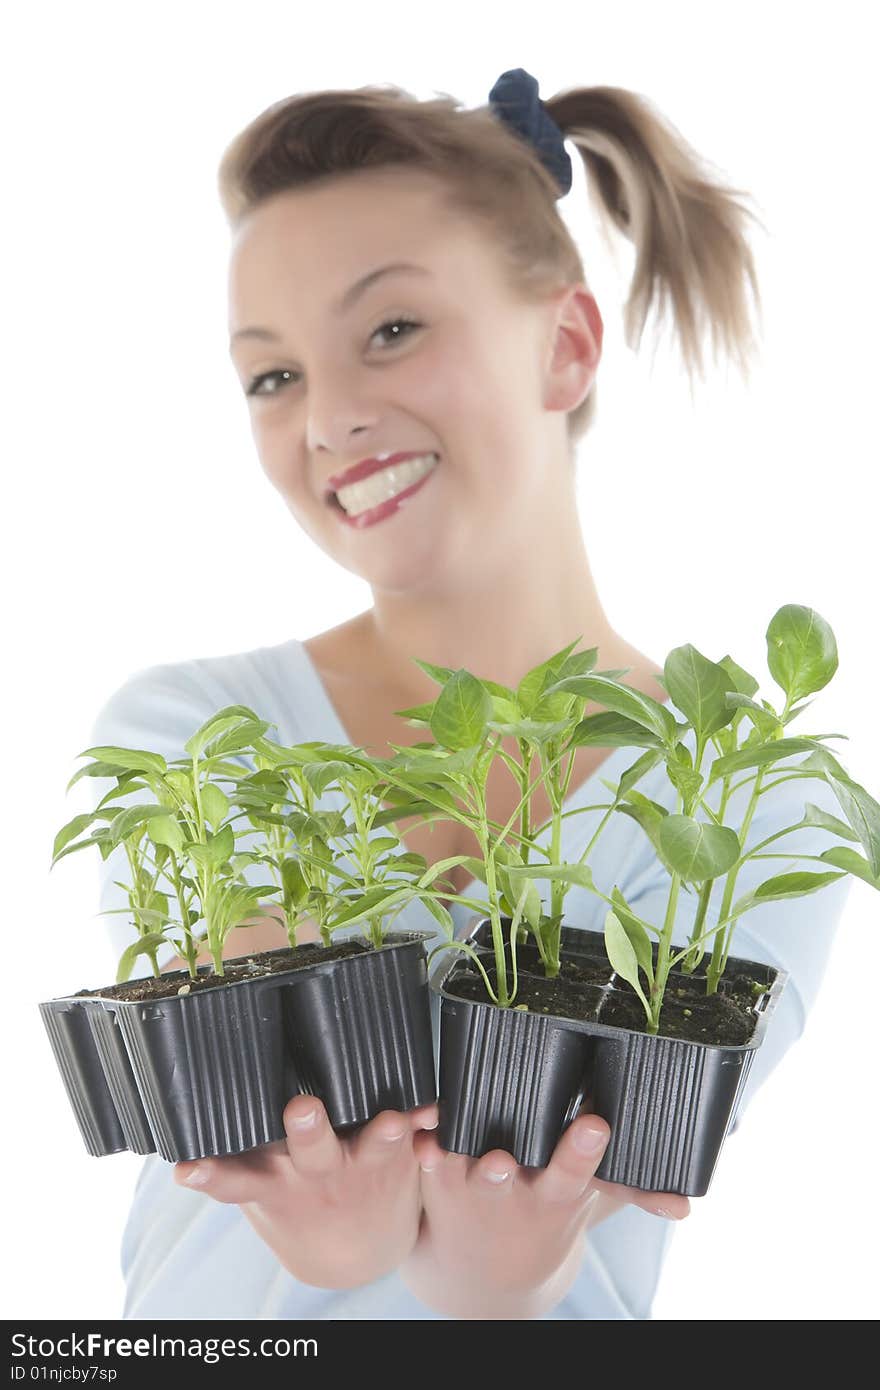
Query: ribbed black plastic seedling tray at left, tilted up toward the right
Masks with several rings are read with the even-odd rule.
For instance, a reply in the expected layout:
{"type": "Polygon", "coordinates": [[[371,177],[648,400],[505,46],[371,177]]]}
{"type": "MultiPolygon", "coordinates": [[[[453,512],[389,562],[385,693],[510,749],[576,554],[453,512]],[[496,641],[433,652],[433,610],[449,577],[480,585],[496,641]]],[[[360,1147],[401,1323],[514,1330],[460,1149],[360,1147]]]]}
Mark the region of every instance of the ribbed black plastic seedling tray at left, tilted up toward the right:
{"type": "Polygon", "coordinates": [[[302,1094],[336,1130],[432,1104],[430,940],[391,933],[380,949],[325,962],[302,947],[307,965],[293,951],[284,973],[154,1002],[40,1004],[88,1151],[241,1154],[284,1138],[284,1108],[302,1094]]]}

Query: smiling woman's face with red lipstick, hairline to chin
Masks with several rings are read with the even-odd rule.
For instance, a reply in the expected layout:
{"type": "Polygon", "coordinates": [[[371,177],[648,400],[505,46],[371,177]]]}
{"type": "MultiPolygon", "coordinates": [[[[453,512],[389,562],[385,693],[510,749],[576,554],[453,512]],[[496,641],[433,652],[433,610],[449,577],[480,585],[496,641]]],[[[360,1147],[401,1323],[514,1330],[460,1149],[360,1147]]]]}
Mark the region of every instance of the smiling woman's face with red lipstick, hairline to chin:
{"type": "MultiPolygon", "coordinates": [[[[557,304],[519,303],[488,238],[421,172],[343,175],[249,215],[232,249],[231,353],[261,466],[327,555],[398,592],[528,562],[523,546],[573,495],[571,406],[548,388],[557,304]],[[360,285],[399,263],[417,268],[360,285]],[[331,480],[399,452],[439,461],[384,520],[352,525],[331,480]]],[[[350,516],[375,502],[342,496],[350,516]]]]}

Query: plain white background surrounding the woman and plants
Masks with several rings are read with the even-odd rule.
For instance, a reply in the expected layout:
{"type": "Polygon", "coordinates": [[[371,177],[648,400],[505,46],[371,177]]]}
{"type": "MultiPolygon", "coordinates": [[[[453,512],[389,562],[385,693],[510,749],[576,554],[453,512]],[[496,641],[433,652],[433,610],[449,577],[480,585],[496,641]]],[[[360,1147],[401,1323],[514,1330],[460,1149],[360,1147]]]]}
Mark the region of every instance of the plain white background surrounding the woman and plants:
{"type": "MultiPolygon", "coordinates": [[[[115,962],[85,855],[47,872],[83,803],[64,788],[111,689],[154,662],[306,638],[370,602],[263,477],[227,357],[215,171],[293,92],[392,82],[484,104],[525,67],[551,96],[646,96],[767,231],[751,385],[690,399],[666,345],[623,343],[633,263],[610,253],[580,161],[563,204],[605,318],[581,514],[602,600],[662,663],[731,652],[779,698],[763,634],[816,607],[840,670],[802,730],[844,733],[880,795],[877,100],[872,7],[698,3],[19,6],[6,25],[1,259],[7,1318],[121,1312],[118,1244],[140,1161],[86,1155],[38,1016],[115,962]]],[[[570,147],[571,149],[571,147],[570,147]]],[[[801,723],[798,731],[801,731],[801,723]]],[[[873,1318],[880,1220],[879,899],[855,883],[817,1006],[677,1230],[655,1316],[873,1318]]]]}

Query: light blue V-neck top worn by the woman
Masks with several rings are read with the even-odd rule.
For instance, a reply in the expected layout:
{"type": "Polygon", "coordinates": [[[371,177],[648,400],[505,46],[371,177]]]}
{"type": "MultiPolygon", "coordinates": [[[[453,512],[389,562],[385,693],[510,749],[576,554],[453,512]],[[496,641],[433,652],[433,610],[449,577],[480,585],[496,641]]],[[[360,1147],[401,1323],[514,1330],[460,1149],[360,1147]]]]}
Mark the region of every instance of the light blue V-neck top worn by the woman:
{"type": "MultiPolygon", "coordinates": [[[[167,759],[182,758],[184,744],[195,730],[218,709],[232,703],[247,705],[261,719],[272,721],[277,734],[270,730],[270,735],[286,744],[313,739],[352,742],[306,648],[300,641],[292,639],[252,652],[136,671],[97,714],[92,744],[146,748],[161,752],[167,759]]],[[[670,709],[681,717],[674,705],[670,703],[670,709]]],[[[402,721],[402,742],[403,733],[406,726],[402,721]]],[[[685,742],[694,752],[692,733],[685,742]]],[[[616,784],[642,753],[641,748],[612,749],[596,771],[567,798],[566,810],[596,802],[608,805],[609,795],[602,778],[616,784]]],[[[784,766],[798,760],[802,758],[788,759],[784,766]]],[[[95,791],[95,802],[111,785],[107,780],[86,781],[95,791]]],[[[638,783],[638,790],[670,810],[677,809],[663,764],[648,773],[638,783]]],[[[720,784],[712,791],[709,802],[717,809],[720,784]],[[717,792],[715,799],[712,791],[717,792]]],[[[751,788],[742,788],[734,792],[726,813],[727,824],[741,824],[749,791],[751,788]]],[[[808,801],[840,816],[834,794],[823,780],[792,778],[760,798],[747,848],[774,830],[797,824],[808,801]]],[[[341,794],[328,791],[321,805],[341,806],[341,794]]],[[[596,809],[563,820],[564,858],[578,858],[601,816],[602,812],[596,809]]],[[[769,851],[817,855],[836,842],[829,831],[805,827],[770,845],[769,851]]],[[[663,922],[669,877],[648,837],[630,816],[610,817],[591,852],[589,866],[602,892],[610,894],[617,884],[641,916],[658,924],[663,922]]],[[[813,867],[801,860],[748,860],[737,878],[737,897],[773,874],[801,866],[813,867]]],[[[122,890],[111,883],[113,878],[125,878],[125,870],[122,851],[101,863],[101,910],[127,905],[122,890]]],[[[252,881],[260,883],[264,878],[252,881]]],[[[791,974],[752,1065],[738,1123],[751,1095],[804,1029],[851,881],[844,877],[817,894],[766,903],[751,912],[737,927],[733,955],[781,966],[791,974]]],[[[538,887],[548,901],[549,884],[539,881],[538,887]]],[[[481,883],[471,883],[466,892],[485,899],[487,890],[481,883]]],[[[719,920],[720,892],[722,883],[717,883],[709,906],[709,924],[719,920]]],[[[460,903],[452,903],[450,908],[456,935],[463,935],[474,920],[474,913],[460,903]]],[[[695,908],[696,894],[681,892],[677,942],[687,941],[695,908]]],[[[605,902],[585,888],[573,887],[566,897],[569,924],[601,931],[605,912],[605,902]]],[[[110,924],[114,949],[121,954],[132,938],[128,919],[114,916],[104,920],[110,924]]],[[[434,931],[437,940],[441,940],[437,922],[421,903],[410,903],[395,919],[393,926],[434,931]]],[[[434,1001],[435,1023],[437,1013],[434,1001]]],[[[724,1154],[720,1162],[724,1162],[724,1154]]],[[[398,1275],[350,1290],[314,1289],[300,1283],[281,1268],[238,1207],[215,1202],[203,1193],[177,1186],[172,1170],[172,1165],[157,1155],[143,1162],[122,1240],[125,1318],[442,1318],[414,1298],[398,1275]]],[[[673,1222],[649,1216],[635,1207],[626,1207],[610,1216],[589,1236],[582,1270],[570,1293],[546,1316],[649,1318],[673,1230],[673,1222]]]]}

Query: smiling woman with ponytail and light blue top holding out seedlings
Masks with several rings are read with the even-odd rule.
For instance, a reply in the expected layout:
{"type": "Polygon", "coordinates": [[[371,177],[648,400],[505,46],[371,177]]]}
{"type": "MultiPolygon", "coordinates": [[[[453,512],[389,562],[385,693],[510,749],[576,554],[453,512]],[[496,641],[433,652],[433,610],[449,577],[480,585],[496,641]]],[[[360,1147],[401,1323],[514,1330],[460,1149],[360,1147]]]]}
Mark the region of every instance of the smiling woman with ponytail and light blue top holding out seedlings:
{"type": "MultiPolygon", "coordinates": [[[[306,641],[136,673],[100,712],[95,744],[182,756],[215,709],[245,703],[289,742],[386,755],[421,737],[395,712],[437,694],[414,657],[516,687],[578,634],[596,667],[667,699],[658,663],[609,623],[581,532],[577,445],[595,417],[603,328],[557,210],[571,183],[563,136],[601,215],[634,246],[630,345],[667,309],[691,375],[706,335],[745,366],[751,214],[644,99],[578,88],[541,103],[513,70],[478,110],[396,88],[277,103],[220,171],[229,350],[266,475],[373,603],[306,641]]],[[[578,749],[567,809],[637,753],[578,749]]],[[[669,798],[659,776],[644,790],[669,798]]],[[[491,817],[506,821],[517,798],[496,759],[491,817]]],[[[545,796],[534,816],[549,817],[545,796]]],[[[596,876],[651,917],[666,884],[639,828],[619,819],[596,876]]],[[[784,795],[755,816],[749,844],[777,821],[791,823],[784,795]]],[[[578,840],[595,828],[589,815],[567,824],[578,840]]],[[[457,824],[400,831],[428,862],[477,848],[457,824]]],[[[809,833],[797,848],[809,851],[809,833]]],[[[448,881],[480,897],[464,867],[448,881]]],[[[802,1029],[847,885],[822,894],[809,933],[797,931],[802,908],[780,902],[737,938],[791,972],[749,1091],[802,1029]]],[[[571,890],[569,905],[573,924],[596,927],[599,899],[571,890]]],[[[470,915],[450,910],[462,934],[470,915]]],[[[677,938],[694,910],[683,903],[677,938]]],[[[437,926],[420,903],[407,924],[437,926]]],[[[227,955],[285,941],[267,913],[232,933],[227,955]]],[[[544,1170],[500,1150],[448,1155],[437,1118],[437,1106],[385,1112],[341,1138],[303,1095],[285,1111],[285,1143],[175,1168],[149,1158],[124,1243],[127,1316],[649,1316],[663,1218],[685,1216],[687,1198],[599,1182],[609,1127],[595,1115],[570,1125],[544,1170]]]]}

